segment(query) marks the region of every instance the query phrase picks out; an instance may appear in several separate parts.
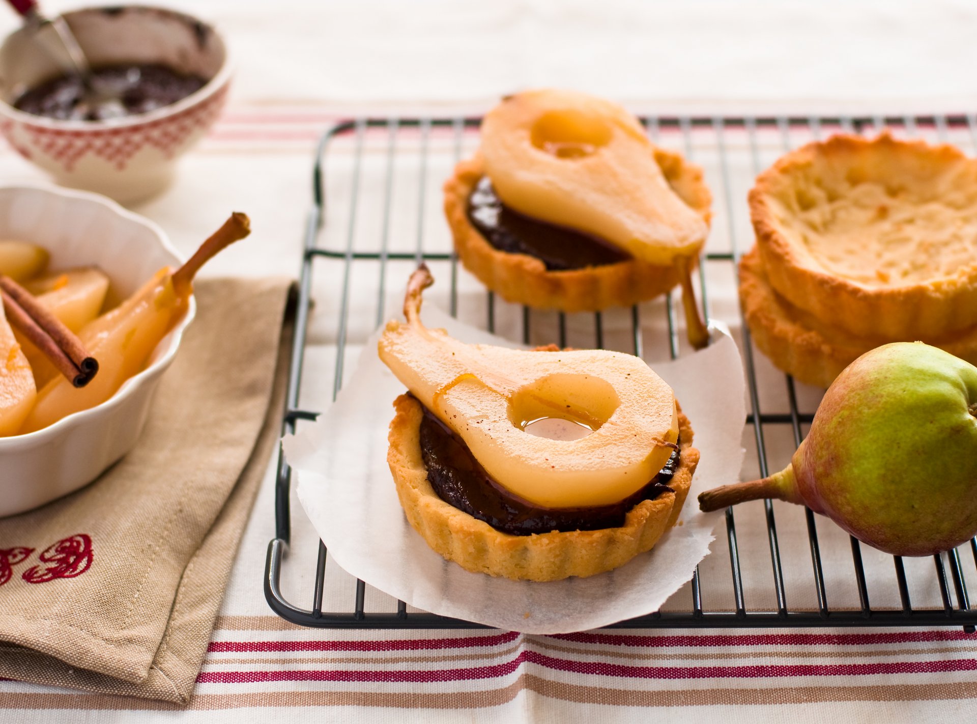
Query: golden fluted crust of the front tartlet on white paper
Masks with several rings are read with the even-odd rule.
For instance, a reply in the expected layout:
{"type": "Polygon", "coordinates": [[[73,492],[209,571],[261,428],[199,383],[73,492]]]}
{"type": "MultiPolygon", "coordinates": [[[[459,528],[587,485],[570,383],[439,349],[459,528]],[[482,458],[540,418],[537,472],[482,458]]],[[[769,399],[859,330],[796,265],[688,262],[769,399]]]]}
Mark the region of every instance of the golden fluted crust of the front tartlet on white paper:
{"type": "Polygon", "coordinates": [[[559,580],[617,568],[651,550],[661,534],[675,525],[699,464],[699,450],[692,447],[692,426],[680,410],[679,465],[668,484],[675,492],[638,503],[627,513],[621,528],[511,535],[496,531],[438,497],[428,482],[421,456],[424,408],[409,395],[397,398],[394,407],[397,414],[390,423],[387,462],[404,514],[435,551],[474,573],[559,580]]]}

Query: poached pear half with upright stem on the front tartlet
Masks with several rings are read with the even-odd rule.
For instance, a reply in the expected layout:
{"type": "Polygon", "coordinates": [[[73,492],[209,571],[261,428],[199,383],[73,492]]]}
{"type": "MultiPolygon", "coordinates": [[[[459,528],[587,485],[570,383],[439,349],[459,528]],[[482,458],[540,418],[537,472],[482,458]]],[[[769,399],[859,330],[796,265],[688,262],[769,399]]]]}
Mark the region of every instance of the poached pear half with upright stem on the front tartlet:
{"type": "Polygon", "coordinates": [[[658,473],[678,439],[675,398],[640,358],[604,350],[529,352],[469,345],[420,321],[427,267],[410,277],[407,323],[391,321],[380,359],[453,430],[499,485],[547,507],[615,503],[658,473]],[[550,440],[525,428],[571,419],[592,432],[550,440]]]}

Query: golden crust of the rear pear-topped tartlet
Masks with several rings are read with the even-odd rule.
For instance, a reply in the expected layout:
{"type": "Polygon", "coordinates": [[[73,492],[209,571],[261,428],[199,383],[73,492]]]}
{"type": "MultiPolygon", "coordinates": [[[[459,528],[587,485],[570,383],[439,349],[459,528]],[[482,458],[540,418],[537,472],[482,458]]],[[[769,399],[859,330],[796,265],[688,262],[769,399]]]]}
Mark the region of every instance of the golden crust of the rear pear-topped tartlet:
{"type": "MultiPolygon", "coordinates": [[[[701,168],[664,149],[656,148],[655,158],[671,188],[708,224],[712,195],[702,180],[701,168]]],[[[596,312],[653,299],[681,281],[677,265],[662,267],[630,260],[550,272],[535,257],[496,249],[468,221],[468,197],[484,175],[477,153],[455,166],[454,175],[445,182],[445,215],[461,263],[506,301],[538,309],[596,312]]],[[[697,250],[690,268],[698,263],[697,250]]]]}

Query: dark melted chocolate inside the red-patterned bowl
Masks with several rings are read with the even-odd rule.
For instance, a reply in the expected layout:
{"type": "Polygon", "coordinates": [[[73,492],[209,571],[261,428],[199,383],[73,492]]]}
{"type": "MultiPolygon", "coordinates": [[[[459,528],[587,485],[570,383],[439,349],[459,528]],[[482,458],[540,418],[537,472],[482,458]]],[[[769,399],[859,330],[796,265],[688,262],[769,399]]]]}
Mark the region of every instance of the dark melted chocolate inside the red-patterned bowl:
{"type": "Polygon", "coordinates": [[[86,99],[81,81],[62,75],[22,94],[14,107],[55,120],[106,120],[172,106],[206,85],[166,65],[117,64],[92,70],[92,86],[106,99],[86,99]]]}

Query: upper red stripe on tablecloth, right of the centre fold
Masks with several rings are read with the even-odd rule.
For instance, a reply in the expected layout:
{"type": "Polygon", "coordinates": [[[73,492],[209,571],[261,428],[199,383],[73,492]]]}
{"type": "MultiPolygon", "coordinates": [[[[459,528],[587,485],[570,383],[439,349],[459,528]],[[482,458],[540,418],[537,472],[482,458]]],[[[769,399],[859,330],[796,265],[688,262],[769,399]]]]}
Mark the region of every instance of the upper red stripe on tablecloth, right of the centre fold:
{"type": "Polygon", "coordinates": [[[744,635],[633,636],[607,633],[563,633],[550,638],[611,646],[866,646],[926,641],[973,641],[963,631],[898,631],[892,633],[751,633],[744,635]]]}

